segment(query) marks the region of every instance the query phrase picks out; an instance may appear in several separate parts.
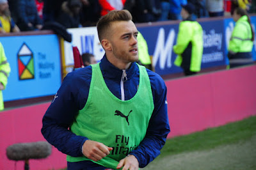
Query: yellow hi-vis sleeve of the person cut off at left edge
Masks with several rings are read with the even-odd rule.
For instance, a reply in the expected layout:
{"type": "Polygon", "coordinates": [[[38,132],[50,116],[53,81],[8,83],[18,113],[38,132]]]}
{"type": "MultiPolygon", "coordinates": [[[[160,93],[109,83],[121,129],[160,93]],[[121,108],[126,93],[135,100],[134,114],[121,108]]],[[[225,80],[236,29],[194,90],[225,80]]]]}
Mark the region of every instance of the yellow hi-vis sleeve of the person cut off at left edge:
{"type": "Polygon", "coordinates": [[[0,82],[2,82],[4,88],[6,87],[10,72],[10,65],[5,56],[3,45],[0,43],[0,82]]]}

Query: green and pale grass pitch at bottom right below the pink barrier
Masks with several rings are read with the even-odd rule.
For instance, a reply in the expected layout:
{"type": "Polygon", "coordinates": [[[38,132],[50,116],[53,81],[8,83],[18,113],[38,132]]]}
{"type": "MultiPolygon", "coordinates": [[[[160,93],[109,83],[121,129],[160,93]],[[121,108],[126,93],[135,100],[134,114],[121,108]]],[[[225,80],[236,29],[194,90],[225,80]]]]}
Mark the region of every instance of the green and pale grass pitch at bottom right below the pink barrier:
{"type": "Polygon", "coordinates": [[[153,169],[256,169],[256,116],[168,139],[153,169]]]}

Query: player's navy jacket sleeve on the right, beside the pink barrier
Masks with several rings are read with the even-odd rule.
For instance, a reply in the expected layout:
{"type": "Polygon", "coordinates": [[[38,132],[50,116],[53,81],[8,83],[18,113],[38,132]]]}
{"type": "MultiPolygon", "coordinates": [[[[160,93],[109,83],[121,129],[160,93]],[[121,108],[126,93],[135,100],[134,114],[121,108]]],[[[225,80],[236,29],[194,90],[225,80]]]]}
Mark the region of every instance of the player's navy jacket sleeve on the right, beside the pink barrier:
{"type": "Polygon", "coordinates": [[[140,167],[147,166],[148,163],[160,154],[160,150],[163,148],[166,137],[170,132],[167,114],[166,86],[159,75],[150,77],[154,97],[154,111],[150,118],[145,138],[141,141],[140,146],[130,153],[138,159],[140,167]]]}

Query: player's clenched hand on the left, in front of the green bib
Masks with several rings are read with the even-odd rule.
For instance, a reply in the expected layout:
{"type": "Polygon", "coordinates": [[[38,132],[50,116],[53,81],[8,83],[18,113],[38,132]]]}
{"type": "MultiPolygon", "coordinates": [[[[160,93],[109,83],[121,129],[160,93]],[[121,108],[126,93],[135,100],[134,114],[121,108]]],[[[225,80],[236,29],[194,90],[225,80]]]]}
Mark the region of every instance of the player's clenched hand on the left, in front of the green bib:
{"type": "Polygon", "coordinates": [[[82,150],[84,156],[93,161],[98,161],[109,155],[109,151],[113,150],[113,148],[109,148],[103,143],[87,140],[84,142],[82,150]]]}

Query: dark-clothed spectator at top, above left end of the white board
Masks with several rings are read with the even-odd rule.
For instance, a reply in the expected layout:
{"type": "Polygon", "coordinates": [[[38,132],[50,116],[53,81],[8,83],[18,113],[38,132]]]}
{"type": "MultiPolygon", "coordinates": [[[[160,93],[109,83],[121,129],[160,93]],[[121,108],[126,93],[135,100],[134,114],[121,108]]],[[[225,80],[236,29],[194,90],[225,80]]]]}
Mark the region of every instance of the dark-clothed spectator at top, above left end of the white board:
{"type": "Polygon", "coordinates": [[[81,6],[80,0],[64,1],[61,5],[61,12],[56,22],[60,23],[65,28],[81,27],[79,16],[81,6]]]}

